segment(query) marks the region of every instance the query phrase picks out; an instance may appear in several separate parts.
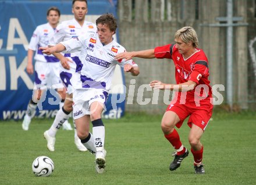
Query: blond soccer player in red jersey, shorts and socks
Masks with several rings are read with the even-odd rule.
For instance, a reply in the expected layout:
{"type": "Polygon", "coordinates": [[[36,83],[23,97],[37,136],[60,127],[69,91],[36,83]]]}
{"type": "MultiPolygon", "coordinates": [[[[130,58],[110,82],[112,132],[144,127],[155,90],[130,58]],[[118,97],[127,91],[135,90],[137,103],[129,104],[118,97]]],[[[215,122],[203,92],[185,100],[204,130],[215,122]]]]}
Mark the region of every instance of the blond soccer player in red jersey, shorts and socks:
{"type": "Polygon", "coordinates": [[[175,79],[177,84],[165,84],[154,80],[150,82],[152,88],[177,91],[175,98],[170,102],[163,115],[161,127],[165,138],[172,144],[176,152],[175,159],[169,169],[176,170],[189,150],[183,146],[179,134],[175,129],[180,128],[184,119],[189,117],[188,125],[191,128],[189,143],[194,156],[195,173],[205,173],[202,165],[204,150],[200,138],[212,115],[211,103],[212,88],[208,80],[208,59],[204,51],[198,48],[197,33],[192,27],[183,27],[175,33],[176,44],[168,44],[155,49],[144,51],[123,52],[116,55],[116,59],[138,58],[168,58],[175,64],[175,79]]]}

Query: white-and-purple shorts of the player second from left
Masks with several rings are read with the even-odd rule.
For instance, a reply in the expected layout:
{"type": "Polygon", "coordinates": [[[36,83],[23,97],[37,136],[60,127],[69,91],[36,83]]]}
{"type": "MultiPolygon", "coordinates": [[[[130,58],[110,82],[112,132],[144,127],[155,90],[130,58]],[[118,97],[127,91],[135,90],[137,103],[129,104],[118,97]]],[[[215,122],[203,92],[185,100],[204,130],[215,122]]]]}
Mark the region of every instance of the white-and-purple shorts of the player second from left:
{"type": "Polygon", "coordinates": [[[76,73],[76,65],[74,62],[69,62],[70,69],[67,70],[64,67],[62,67],[61,63],[60,65],[60,74],[61,80],[66,88],[66,93],[67,94],[72,94],[74,93],[74,88],[72,85],[72,80],[70,80],[73,76],[74,73],[76,73]]]}

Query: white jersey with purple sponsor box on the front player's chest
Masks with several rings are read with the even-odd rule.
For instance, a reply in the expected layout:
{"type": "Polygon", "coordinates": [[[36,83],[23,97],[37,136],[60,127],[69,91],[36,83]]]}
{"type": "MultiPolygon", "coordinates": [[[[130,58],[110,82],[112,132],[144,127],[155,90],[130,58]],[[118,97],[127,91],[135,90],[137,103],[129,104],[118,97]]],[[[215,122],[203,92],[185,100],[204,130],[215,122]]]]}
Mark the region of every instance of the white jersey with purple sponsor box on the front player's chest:
{"type": "Polygon", "coordinates": [[[72,78],[75,90],[102,89],[108,92],[116,65],[123,67],[129,63],[137,66],[132,60],[116,61],[115,55],[125,52],[125,48],[114,40],[102,45],[98,34],[81,35],[61,43],[66,47],[66,52],[81,51],[79,55],[81,62],[77,64],[80,72],[74,74],[72,78]]]}

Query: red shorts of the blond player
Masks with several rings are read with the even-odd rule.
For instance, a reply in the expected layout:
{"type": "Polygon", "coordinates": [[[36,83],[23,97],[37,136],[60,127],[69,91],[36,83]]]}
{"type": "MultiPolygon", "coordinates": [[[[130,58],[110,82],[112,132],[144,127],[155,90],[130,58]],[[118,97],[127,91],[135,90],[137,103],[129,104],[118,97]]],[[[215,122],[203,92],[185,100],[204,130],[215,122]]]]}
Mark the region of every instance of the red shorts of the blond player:
{"type": "Polygon", "coordinates": [[[173,99],[170,105],[166,108],[166,111],[175,112],[180,121],[176,124],[177,128],[180,128],[188,116],[189,120],[187,124],[191,128],[192,123],[205,130],[209,119],[212,116],[212,109],[214,106],[211,104],[210,97],[207,97],[200,101],[200,106],[195,105],[194,97],[187,97],[185,102],[180,101],[180,97],[173,99]]]}

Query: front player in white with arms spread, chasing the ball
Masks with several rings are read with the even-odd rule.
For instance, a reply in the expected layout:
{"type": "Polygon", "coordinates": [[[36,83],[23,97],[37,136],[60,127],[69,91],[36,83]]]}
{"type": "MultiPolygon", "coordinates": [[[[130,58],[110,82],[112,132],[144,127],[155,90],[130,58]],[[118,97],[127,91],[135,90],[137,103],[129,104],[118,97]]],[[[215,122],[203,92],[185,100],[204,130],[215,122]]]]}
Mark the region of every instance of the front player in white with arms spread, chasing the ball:
{"type": "Polygon", "coordinates": [[[80,63],[77,63],[77,73],[72,77],[73,117],[76,122],[77,136],[88,150],[95,153],[95,169],[103,173],[105,169],[104,149],[105,127],[101,113],[111,87],[111,80],[116,65],[125,72],[137,76],[140,72],[132,60],[115,60],[115,55],[125,52],[120,44],[113,40],[117,21],[112,14],[104,14],[96,20],[97,34],[80,35],[77,38],[61,42],[52,48],[41,48],[45,54],[54,52],[81,51],[80,63]],[[93,134],[89,132],[90,122],[93,123],[93,134]]]}

